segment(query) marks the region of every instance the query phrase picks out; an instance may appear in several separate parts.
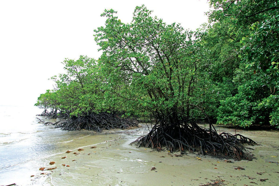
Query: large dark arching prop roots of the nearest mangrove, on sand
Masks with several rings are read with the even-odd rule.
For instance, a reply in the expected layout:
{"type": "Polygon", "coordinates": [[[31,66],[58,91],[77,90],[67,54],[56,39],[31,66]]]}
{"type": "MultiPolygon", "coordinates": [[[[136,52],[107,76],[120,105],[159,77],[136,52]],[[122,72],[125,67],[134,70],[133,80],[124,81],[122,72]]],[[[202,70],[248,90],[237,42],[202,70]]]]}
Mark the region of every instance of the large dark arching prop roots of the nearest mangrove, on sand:
{"type": "Polygon", "coordinates": [[[202,155],[226,156],[237,160],[251,159],[244,153],[243,144],[253,145],[256,142],[240,134],[218,134],[213,129],[206,129],[196,123],[157,122],[146,136],[139,137],[131,144],[157,150],[165,147],[169,152],[180,150],[183,153],[188,150],[202,155]]]}

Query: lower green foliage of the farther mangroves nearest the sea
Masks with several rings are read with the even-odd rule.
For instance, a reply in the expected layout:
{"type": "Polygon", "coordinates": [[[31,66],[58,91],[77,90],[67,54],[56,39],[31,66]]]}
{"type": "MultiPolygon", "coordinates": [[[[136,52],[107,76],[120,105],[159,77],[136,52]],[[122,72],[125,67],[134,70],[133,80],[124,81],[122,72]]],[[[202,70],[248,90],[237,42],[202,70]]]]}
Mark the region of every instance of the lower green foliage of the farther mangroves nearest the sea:
{"type": "Polygon", "coordinates": [[[75,116],[128,109],[120,100],[116,103],[117,95],[110,91],[118,90],[119,93],[125,86],[123,82],[111,85],[107,74],[94,59],[80,56],[76,61],[66,59],[63,63],[66,73],[51,78],[56,82],[56,88],[41,94],[36,106],[55,108],[75,116]]]}

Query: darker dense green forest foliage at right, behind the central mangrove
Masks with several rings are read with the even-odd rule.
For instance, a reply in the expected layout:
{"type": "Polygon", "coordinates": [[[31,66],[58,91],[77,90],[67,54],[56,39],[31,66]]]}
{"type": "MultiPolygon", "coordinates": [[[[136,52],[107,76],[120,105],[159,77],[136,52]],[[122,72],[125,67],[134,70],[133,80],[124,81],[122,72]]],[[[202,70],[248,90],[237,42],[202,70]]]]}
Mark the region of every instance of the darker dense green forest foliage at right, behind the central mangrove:
{"type": "Polygon", "coordinates": [[[225,95],[218,100],[218,123],[278,127],[278,1],[210,3],[207,71],[225,95]]]}

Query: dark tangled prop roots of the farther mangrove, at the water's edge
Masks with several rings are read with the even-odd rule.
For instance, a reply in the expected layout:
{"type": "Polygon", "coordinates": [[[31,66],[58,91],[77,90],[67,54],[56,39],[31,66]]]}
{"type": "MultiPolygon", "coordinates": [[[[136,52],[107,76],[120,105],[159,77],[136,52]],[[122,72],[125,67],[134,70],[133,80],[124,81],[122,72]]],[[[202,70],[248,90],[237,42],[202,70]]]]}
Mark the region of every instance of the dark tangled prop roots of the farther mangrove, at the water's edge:
{"type": "Polygon", "coordinates": [[[55,128],[61,128],[66,131],[77,130],[92,130],[96,132],[102,132],[102,130],[110,130],[116,128],[131,128],[138,126],[136,120],[121,118],[118,114],[101,112],[99,114],[91,113],[85,116],[73,116],[67,120],[60,120],[56,123],[55,128]]]}

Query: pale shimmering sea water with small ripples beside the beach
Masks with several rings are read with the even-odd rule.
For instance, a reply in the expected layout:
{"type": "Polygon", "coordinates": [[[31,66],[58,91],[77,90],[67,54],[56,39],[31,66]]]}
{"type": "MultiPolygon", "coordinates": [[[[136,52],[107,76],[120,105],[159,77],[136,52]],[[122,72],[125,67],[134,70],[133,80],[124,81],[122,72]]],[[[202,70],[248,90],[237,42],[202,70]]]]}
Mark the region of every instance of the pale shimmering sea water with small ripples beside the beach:
{"type": "Polygon", "coordinates": [[[0,185],[28,185],[44,158],[77,148],[79,138],[93,134],[38,123],[41,112],[37,107],[0,106],[0,185]]]}

